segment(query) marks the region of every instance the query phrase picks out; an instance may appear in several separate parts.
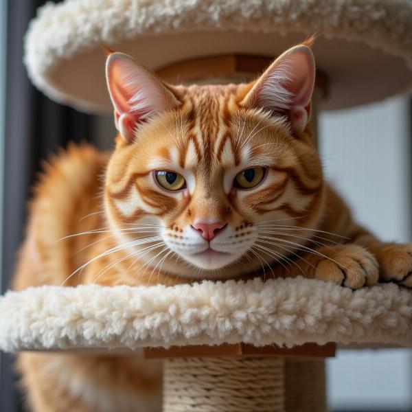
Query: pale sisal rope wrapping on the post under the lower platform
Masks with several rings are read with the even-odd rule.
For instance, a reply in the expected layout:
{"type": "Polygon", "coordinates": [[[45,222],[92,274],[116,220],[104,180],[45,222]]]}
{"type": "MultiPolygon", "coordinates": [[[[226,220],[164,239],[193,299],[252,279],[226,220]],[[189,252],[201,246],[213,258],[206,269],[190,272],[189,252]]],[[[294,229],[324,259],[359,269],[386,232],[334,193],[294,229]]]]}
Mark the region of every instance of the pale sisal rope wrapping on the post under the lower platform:
{"type": "Polygon", "coordinates": [[[170,358],[163,412],[284,412],[284,359],[170,358]]]}

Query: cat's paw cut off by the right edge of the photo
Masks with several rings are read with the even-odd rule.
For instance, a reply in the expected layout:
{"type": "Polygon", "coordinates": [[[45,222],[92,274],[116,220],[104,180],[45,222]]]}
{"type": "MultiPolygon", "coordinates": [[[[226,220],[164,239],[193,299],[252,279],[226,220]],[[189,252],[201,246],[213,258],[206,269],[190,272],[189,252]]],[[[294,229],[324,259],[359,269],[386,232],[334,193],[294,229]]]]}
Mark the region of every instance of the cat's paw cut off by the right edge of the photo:
{"type": "Polygon", "coordinates": [[[412,243],[382,244],[376,251],[380,280],[412,288],[412,243]]]}

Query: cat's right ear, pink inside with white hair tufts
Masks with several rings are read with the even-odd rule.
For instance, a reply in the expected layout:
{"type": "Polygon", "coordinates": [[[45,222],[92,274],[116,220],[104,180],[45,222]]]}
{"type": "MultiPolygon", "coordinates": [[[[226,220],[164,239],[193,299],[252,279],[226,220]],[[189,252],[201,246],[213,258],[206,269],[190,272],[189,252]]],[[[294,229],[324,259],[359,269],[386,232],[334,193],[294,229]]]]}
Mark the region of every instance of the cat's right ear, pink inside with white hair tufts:
{"type": "Polygon", "coordinates": [[[310,120],[314,76],[314,57],[310,47],[292,47],[255,80],[240,105],[286,115],[293,133],[300,135],[310,120]]]}

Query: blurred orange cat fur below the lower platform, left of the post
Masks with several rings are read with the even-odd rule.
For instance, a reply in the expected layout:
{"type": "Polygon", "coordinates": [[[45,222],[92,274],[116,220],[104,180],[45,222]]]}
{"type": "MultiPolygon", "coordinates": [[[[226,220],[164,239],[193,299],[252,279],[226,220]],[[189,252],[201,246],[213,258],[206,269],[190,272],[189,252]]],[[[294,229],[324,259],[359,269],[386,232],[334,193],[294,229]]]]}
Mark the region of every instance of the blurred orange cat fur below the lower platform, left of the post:
{"type": "Polygon", "coordinates": [[[23,352],[18,366],[32,412],[161,411],[161,365],[139,354],[23,352]]]}

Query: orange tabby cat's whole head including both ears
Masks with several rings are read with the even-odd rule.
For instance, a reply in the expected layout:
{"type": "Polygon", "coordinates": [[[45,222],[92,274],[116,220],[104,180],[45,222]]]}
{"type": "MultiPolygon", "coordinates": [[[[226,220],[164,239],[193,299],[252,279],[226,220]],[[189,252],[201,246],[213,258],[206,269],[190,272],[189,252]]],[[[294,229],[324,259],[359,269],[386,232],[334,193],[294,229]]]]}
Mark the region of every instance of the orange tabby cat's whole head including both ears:
{"type": "Polygon", "coordinates": [[[187,277],[256,271],[297,251],[323,204],[314,75],[307,45],[239,85],[172,87],[110,54],[119,134],[104,199],[119,247],[187,277]]]}

